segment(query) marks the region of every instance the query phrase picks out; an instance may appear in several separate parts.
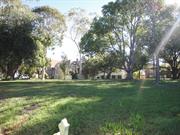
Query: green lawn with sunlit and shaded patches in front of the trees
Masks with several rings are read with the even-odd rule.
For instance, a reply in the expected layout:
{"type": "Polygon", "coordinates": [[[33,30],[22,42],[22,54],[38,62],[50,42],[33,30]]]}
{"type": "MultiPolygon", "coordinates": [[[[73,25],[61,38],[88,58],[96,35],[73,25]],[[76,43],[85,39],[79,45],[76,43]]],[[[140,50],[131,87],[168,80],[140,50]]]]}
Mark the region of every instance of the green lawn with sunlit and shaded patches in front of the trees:
{"type": "Polygon", "coordinates": [[[0,82],[0,135],[52,135],[64,117],[70,135],[180,135],[180,82],[0,82]]]}

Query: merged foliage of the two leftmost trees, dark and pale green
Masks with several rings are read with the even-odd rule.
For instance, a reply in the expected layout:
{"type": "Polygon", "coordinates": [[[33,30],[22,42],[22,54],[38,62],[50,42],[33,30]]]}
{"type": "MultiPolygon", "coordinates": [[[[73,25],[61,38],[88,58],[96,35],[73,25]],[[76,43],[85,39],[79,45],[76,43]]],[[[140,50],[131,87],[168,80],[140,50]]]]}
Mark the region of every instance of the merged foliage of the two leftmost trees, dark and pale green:
{"type": "Polygon", "coordinates": [[[64,17],[56,9],[39,7],[30,10],[20,1],[2,1],[0,5],[0,69],[5,79],[14,78],[21,64],[44,69],[46,51],[61,44],[64,17]],[[56,36],[58,35],[58,36],[56,36]]]}

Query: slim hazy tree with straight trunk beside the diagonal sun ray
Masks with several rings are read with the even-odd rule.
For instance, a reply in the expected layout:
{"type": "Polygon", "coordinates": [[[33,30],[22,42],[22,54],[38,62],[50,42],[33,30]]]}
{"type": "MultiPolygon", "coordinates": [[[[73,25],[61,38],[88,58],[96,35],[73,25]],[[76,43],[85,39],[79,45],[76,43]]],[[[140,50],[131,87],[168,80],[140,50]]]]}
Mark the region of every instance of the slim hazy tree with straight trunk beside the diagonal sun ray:
{"type": "Polygon", "coordinates": [[[145,44],[148,46],[150,59],[153,61],[153,71],[156,83],[160,81],[160,65],[159,65],[159,44],[171,25],[173,19],[174,7],[167,7],[164,0],[146,1],[145,15],[148,19],[145,20],[147,35],[145,44]]]}

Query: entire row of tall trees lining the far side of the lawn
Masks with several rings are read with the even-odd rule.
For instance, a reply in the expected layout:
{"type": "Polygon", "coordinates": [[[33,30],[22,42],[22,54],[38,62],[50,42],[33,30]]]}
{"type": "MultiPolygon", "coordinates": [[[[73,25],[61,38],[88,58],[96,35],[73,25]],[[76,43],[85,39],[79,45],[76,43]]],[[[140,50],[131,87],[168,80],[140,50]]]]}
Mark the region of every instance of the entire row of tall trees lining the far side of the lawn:
{"type": "MultiPolygon", "coordinates": [[[[0,72],[4,79],[14,79],[17,71],[30,77],[36,73],[44,79],[50,64],[47,49],[60,46],[67,30],[80,53],[80,74],[94,77],[102,72],[109,79],[119,69],[132,80],[133,73],[150,62],[159,82],[162,60],[168,64],[166,70],[172,79],[179,79],[178,14],[177,7],[166,6],[164,0],[116,0],[104,5],[102,16],[91,21],[81,9],[72,9],[64,16],[48,6],[31,9],[20,0],[1,0],[0,72]],[[174,24],[176,30],[167,45],[159,48],[165,33],[174,24]]],[[[64,76],[66,61],[64,58],[60,66],[64,76]]]]}

